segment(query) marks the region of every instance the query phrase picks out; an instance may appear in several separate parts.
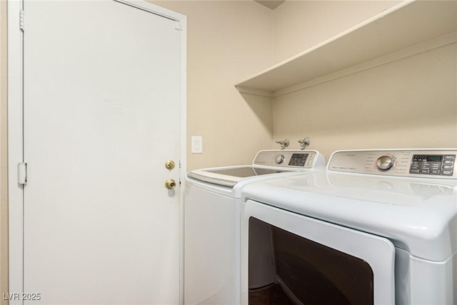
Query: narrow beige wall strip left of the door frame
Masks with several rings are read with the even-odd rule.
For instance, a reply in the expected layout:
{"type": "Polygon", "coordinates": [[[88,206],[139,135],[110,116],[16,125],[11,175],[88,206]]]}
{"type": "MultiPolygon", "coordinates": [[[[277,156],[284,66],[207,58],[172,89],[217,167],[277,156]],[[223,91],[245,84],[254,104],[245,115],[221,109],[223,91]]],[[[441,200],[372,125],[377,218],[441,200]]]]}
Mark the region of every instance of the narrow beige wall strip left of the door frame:
{"type": "MultiPolygon", "coordinates": [[[[0,1],[0,295],[8,292],[8,160],[6,120],[6,1],[0,1]]],[[[0,304],[7,304],[3,298],[0,304]]]]}

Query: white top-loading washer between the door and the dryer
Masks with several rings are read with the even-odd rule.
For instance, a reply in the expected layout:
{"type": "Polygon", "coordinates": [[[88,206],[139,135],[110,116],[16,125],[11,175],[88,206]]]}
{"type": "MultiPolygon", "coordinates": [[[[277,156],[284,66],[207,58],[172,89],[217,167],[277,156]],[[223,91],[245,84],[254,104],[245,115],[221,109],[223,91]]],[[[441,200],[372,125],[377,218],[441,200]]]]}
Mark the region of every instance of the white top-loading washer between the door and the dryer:
{"type": "Polygon", "coordinates": [[[259,151],[248,166],[187,174],[184,201],[184,304],[240,304],[241,189],[252,181],[325,171],[318,151],[259,151]]]}

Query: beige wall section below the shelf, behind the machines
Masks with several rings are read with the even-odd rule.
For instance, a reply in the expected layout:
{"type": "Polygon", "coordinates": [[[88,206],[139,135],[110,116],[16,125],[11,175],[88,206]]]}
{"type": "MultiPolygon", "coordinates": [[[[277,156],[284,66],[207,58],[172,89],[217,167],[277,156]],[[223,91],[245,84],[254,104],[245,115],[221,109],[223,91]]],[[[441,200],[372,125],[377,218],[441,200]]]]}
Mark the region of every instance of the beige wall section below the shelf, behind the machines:
{"type": "Polygon", "coordinates": [[[456,45],[279,96],[275,138],[337,149],[456,147],[456,45]],[[293,111],[290,111],[293,109],[293,111]]]}

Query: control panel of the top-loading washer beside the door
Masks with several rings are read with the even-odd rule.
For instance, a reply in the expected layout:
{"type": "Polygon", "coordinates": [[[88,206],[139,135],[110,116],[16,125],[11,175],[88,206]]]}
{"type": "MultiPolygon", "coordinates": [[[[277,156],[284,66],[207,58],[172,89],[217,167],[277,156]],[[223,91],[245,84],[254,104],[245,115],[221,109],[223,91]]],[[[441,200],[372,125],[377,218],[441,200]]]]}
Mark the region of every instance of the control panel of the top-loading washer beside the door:
{"type": "Polygon", "coordinates": [[[283,149],[258,151],[253,165],[286,169],[316,169],[325,168],[325,161],[318,151],[283,149]]]}

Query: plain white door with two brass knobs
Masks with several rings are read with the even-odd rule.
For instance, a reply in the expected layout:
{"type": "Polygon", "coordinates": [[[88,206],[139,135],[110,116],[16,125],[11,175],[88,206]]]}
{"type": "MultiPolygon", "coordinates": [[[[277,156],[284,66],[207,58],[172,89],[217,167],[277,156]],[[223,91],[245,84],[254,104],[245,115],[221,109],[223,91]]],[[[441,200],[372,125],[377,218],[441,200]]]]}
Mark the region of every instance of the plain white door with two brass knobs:
{"type": "Polygon", "coordinates": [[[179,22],[117,1],[24,12],[24,296],[178,304],[179,22]]]}

